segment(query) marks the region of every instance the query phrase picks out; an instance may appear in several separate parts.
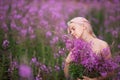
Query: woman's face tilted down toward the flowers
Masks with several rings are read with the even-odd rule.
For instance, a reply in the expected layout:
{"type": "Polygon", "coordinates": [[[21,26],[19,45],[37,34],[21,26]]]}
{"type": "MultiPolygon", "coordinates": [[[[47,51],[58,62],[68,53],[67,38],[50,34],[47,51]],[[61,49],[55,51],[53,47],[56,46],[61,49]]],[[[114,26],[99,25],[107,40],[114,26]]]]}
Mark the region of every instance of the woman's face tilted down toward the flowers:
{"type": "Polygon", "coordinates": [[[83,33],[83,25],[78,25],[76,23],[70,23],[68,27],[68,32],[75,37],[76,39],[81,38],[81,35],[83,33]]]}

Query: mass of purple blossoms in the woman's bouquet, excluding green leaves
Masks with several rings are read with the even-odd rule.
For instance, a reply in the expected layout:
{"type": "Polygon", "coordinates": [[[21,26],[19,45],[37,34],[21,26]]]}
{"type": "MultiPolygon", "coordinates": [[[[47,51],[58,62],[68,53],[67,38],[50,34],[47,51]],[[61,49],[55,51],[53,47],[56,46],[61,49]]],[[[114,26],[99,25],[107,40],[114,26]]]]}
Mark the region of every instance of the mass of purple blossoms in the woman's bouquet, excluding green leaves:
{"type": "Polygon", "coordinates": [[[96,55],[91,49],[91,43],[82,40],[74,40],[71,58],[73,62],[82,64],[88,71],[97,71],[101,76],[115,70],[118,64],[112,59],[105,59],[110,53],[108,48],[102,50],[104,55],[96,55]]]}

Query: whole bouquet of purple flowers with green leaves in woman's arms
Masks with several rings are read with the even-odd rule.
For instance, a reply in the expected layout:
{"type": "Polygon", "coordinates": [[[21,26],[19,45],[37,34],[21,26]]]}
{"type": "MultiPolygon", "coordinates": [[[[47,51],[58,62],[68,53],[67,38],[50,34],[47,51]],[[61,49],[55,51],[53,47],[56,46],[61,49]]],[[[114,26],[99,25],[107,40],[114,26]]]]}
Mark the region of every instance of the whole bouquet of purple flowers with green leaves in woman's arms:
{"type": "Polygon", "coordinates": [[[72,79],[82,78],[82,76],[97,77],[106,76],[107,73],[112,72],[118,67],[112,59],[105,59],[109,54],[108,49],[105,48],[97,55],[91,49],[91,43],[86,43],[83,40],[66,41],[66,46],[71,49],[72,63],[69,67],[69,73],[72,79]]]}

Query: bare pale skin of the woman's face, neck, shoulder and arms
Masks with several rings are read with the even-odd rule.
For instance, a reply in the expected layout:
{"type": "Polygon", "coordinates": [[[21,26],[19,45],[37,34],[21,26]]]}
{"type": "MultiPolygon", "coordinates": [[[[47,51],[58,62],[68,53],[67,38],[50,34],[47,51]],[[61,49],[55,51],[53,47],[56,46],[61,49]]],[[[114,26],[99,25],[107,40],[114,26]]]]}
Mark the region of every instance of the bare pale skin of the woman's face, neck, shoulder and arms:
{"type": "MultiPolygon", "coordinates": [[[[101,55],[101,54],[104,55],[104,53],[100,53],[100,52],[104,48],[108,48],[109,54],[107,56],[105,55],[104,58],[105,59],[111,58],[111,52],[110,52],[108,44],[105,41],[98,39],[97,37],[93,37],[87,31],[86,26],[79,25],[73,22],[73,23],[70,23],[70,25],[68,26],[68,32],[76,39],[80,38],[88,43],[92,42],[91,48],[93,52],[95,52],[97,55],[101,55]]],[[[69,68],[70,63],[72,62],[70,56],[71,56],[71,51],[68,54],[67,58],[65,59],[64,73],[65,73],[66,78],[69,77],[68,68],[69,68]]],[[[106,77],[89,78],[87,76],[83,76],[82,80],[104,80],[106,77]]],[[[81,79],[78,78],[77,80],[81,80],[81,79]]]]}

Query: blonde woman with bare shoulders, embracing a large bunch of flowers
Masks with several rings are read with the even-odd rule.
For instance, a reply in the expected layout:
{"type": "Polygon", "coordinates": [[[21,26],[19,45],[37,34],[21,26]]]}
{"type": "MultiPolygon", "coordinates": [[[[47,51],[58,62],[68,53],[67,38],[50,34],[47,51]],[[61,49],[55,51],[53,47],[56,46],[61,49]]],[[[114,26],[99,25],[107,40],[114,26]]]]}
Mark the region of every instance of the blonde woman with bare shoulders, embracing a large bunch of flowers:
{"type": "MultiPolygon", "coordinates": [[[[70,20],[68,22],[68,32],[76,39],[80,38],[88,43],[92,42],[91,48],[93,52],[95,52],[98,56],[101,54],[104,56],[104,53],[101,53],[101,51],[104,48],[108,48],[109,54],[107,56],[105,55],[104,58],[105,59],[111,58],[111,52],[108,44],[105,41],[100,40],[95,36],[91,24],[87,19],[83,17],[76,17],[70,20]]],[[[65,60],[64,73],[67,79],[69,78],[69,73],[68,73],[69,65],[72,62],[70,56],[71,56],[71,51],[65,60]]],[[[97,78],[89,78],[87,76],[83,76],[83,80],[104,80],[105,78],[107,78],[107,76],[97,77],[97,78]]]]}

